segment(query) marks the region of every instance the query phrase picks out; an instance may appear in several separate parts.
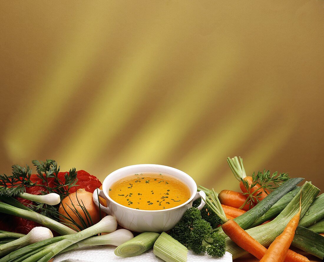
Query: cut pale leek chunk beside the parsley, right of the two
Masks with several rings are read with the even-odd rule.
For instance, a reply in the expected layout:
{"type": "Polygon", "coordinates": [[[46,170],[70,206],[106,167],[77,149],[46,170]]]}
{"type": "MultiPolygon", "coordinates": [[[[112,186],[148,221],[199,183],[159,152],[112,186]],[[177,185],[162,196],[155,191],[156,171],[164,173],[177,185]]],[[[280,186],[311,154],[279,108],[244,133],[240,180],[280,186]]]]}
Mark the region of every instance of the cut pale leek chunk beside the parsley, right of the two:
{"type": "Polygon", "coordinates": [[[166,262],[186,262],[188,249],[178,240],[162,232],[155,241],[153,253],[166,262]]]}

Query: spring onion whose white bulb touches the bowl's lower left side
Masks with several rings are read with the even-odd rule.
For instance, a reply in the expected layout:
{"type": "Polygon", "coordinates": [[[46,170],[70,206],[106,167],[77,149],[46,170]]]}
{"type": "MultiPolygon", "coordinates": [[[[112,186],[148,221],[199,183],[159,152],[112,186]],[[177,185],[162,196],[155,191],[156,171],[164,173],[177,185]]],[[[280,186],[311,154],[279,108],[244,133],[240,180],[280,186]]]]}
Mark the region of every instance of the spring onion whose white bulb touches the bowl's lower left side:
{"type": "MultiPolygon", "coordinates": [[[[97,224],[71,235],[53,237],[35,244],[25,246],[0,259],[0,262],[19,261],[19,257],[28,257],[24,262],[47,262],[65,248],[99,233],[111,233],[117,228],[117,221],[113,216],[105,216],[97,224]],[[36,252],[37,251],[37,252],[36,252]]],[[[21,260],[20,260],[21,261],[21,260]]]]}

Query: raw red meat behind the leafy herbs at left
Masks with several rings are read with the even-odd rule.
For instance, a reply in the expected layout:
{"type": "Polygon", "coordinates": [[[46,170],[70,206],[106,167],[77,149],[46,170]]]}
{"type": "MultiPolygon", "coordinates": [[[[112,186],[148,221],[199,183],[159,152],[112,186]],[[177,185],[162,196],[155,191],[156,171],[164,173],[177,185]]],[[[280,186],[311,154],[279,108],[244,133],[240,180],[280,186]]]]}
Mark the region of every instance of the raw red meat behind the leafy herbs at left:
{"type": "MultiPolygon", "coordinates": [[[[62,183],[65,183],[65,178],[64,178],[65,173],[69,173],[69,172],[58,173],[58,178],[62,181],[62,183]]],[[[101,186],[101,182],[98,180],[97,177],[95,177],[94,175],[90,175],[88,172],[84,170],[77,171],[77,179],[78,182],[76,184],[78,186],[71,187],[69,190],[70,193],[75,193],[75,191],[78,188],[84,188],[86,191],[92,193],[96,188],[99,188],[101,186]]],[[[36,174],[32,174],[30,176],[30,180],[33,183],[37,182],[37,184],[44,184],[42,183],[41,179],[37,177],[36,174]]],[[[53,180],[54,180],[53,178],[48,179],[48,184],[51,187],[54,186],[53,180]]],[[[26,188],[26,193],[40,195],[42,194],[44,189],[45,188],[42,186],[35,185],[26,188]]],[[[26,206],[32,204],[32,201],[20,197],[18,197],[17,200],[19,200],[21,203],[23,203],[26,206]]],[[[0,230],[16,232],[21,234],[28,234],[29,231],[36,226],[42,226],[42,225],[21,217],[1,214],[0,230]]]]}

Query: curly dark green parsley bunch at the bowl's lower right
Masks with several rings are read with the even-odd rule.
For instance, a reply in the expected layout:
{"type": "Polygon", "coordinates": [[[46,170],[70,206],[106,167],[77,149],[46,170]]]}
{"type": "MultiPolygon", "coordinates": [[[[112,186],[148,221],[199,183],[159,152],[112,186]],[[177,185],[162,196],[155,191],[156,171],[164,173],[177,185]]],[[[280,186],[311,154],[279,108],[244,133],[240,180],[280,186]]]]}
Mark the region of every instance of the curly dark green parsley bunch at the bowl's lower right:
{"type": "Polygon", "coordinates": [[[206,253],[213,257],[225,254],[225,238],[212,231],[209,222],[205,221],[197,208],[189,208],[179,223],[169,232],[181,244],[197,254],[206,253]],[[209,245],[203,245],[203,242],[209,245]]]}

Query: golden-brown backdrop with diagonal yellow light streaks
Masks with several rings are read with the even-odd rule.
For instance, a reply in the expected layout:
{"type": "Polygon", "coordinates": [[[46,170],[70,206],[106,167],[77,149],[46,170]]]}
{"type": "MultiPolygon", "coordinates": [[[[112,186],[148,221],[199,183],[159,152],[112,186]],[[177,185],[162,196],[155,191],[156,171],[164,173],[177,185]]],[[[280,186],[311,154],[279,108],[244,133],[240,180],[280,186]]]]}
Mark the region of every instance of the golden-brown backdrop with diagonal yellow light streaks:
{"type": "Polygon", "coordinates": [[[324,1],[1,1],[0,170],[226,157],[323,188],[324,1]]]}

